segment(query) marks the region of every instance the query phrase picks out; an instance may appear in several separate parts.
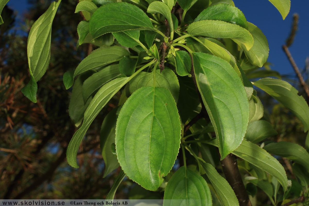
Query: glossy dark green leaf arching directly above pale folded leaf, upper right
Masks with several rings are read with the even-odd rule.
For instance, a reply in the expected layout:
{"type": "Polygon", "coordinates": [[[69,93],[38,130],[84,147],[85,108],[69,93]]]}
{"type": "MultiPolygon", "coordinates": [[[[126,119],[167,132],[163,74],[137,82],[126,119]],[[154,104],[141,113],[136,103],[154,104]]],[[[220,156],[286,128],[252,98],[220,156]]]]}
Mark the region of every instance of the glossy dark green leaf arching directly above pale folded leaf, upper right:
{"type": "Polygon", "coordinates": [[[220,3],[209,6],[194,19],[195,22],[201,20],[220,20],[248,29],[247,19],[243,12],[229,4],[220,3]]]}

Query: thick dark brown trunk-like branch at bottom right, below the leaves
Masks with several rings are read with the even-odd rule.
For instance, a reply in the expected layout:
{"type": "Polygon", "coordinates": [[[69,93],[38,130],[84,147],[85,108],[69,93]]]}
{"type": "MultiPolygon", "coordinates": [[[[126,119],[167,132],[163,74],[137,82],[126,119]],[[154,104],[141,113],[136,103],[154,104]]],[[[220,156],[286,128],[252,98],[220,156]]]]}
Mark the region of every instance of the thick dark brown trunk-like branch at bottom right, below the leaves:
{"type": "Polygon", "coordinates": [[[231,185],[239,201],[239,206],[251,206],[249,196],[241,179],[237,160],[234,154],[229,154],[221,160],[221,165],[227,182],[231,185]]]}

